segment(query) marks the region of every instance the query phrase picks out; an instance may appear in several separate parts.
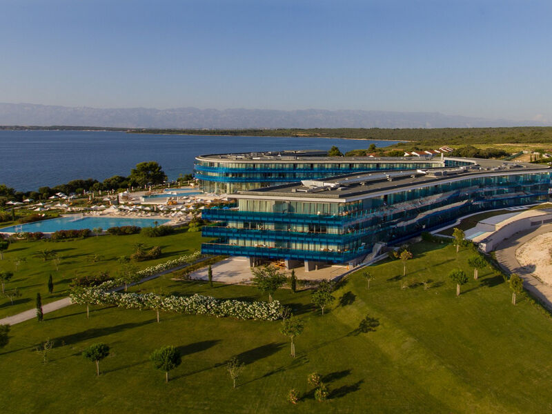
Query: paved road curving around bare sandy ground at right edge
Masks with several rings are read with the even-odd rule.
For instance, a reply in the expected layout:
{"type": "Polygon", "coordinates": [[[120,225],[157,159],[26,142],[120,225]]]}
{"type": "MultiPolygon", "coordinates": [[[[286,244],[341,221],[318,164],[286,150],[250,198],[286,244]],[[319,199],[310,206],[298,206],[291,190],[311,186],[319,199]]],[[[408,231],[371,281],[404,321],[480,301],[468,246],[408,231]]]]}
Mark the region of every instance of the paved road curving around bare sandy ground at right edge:
{"type": "Polygon", "coordinates": [[[540,301],[552,310],[552,286],[540,282],[538,277],[533,275],[530,270],[517,262],[515,250],[529,242],[538,235],[552,232],[552,224],[544,224],[535,230],[529,229],[516,233],[509,239],[500,242],[495,250],[495,255],[500,267],[506,272],[517,273],[523,278],[523,287],[531,292],[531,295],[538,297],[540,301]]]}

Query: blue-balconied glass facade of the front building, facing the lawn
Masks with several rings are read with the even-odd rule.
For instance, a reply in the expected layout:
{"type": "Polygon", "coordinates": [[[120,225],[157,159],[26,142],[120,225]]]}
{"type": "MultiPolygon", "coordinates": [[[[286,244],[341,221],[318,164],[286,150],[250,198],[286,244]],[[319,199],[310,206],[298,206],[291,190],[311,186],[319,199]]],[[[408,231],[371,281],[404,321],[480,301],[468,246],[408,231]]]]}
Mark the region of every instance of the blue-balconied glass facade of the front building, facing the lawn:
{"type": "Polygon", "coordinates": [[[431,184],[366,193],[361,199],[319,202],[239,199],[234,210],[206,209],[203,253],[346,263],[377,242],[400,242],[462,215],[549,199],[551,172],[470,175],[431,184]]]}

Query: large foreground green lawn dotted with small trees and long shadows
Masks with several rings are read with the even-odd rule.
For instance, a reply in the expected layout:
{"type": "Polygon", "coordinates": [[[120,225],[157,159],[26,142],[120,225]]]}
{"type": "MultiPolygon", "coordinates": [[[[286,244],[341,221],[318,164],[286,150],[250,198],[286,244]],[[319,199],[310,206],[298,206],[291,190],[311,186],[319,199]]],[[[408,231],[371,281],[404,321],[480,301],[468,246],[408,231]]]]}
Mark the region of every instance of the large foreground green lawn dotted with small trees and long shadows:
{"type": "MultiPolygon", "coordinates": [[[[162,314],[157,324],[153,311],[99,307],[87,320],[83,307],[70,306],[46,315],[41,324],[12,326],[10,344],[0,351],[0,406],[6,413],[550,411],[551,319],[524,300],[512,306],[508,286],[489,268],[455,297],[447,275],[457,267],[473,275],[467,249],[456,254],[451,245],[420,243],[412,251],[409,288],[400,288],[400,261],[372,266],[370,290],[362,275],[351,275],[323,317],[312,311],[309,291],[279,290],[275,297],[305,323],[295,359],[279,322],[162,314]],[[420,282],[428,279],[431,288],[424,290],[420,282]],[[366,315],[379,325],[355,335],[366,315]],[[32,348],[48,337],[57,346],[43,365],[32,348]],[[112,348],[100,377],[80,355],[96,342],[112,348]],[[148,361],[155,348],[166,345],[184,355],[169,384],[148,361]],[[234,355],[246,363],[236,389],[224,370],[234,355]],[[327,402],[315,402],[306,384],[313,371],[324,375],[331,392],[327,402]],[[290,388],[302,393],[297,406],[286,402],[290,388]]],[[[264,298],[253,286],[170,281],[164,288],[264,298]]]]}

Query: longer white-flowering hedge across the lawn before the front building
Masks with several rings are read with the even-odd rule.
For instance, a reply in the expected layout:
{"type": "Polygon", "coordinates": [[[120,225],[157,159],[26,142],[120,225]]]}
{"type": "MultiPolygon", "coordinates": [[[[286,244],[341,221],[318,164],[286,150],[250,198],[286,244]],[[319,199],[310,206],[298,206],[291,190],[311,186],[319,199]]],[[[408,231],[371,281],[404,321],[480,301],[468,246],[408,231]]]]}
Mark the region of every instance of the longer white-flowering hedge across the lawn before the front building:
{"type": "Polygon", "coordinates": [[[197,294],[184,297],[108,291],[116,286],[117,282],[108,281],[99,286],[74,288],[69,296],[71,302],[75,304],[115,305],[127,309],[152,309],[188,315],[228,316],[265,321],[279,319],[282,307],[278,301],[244,302],[235,299],[215,299],[215,297],[197,294]]]}

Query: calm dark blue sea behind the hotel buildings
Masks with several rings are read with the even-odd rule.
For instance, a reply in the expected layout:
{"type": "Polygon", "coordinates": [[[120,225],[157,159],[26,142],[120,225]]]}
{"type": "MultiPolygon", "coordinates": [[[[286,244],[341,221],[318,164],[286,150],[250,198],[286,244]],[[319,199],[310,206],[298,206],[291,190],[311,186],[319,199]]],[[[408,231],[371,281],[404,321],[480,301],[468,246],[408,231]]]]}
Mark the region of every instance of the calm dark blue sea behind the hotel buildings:
{"type": "Polygon", "coordinates": [[[103,131],[0,131],[0,184],[37,190],[72,179],[129,175],[141,161],[158,161],[175,179],[193,170],[201,154],[273,150],[342,152],[388,146],[395,141],[359,141],[306,137],[213,137],[203,135],[127,134],[103,131]]]}

